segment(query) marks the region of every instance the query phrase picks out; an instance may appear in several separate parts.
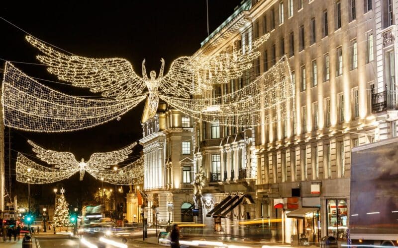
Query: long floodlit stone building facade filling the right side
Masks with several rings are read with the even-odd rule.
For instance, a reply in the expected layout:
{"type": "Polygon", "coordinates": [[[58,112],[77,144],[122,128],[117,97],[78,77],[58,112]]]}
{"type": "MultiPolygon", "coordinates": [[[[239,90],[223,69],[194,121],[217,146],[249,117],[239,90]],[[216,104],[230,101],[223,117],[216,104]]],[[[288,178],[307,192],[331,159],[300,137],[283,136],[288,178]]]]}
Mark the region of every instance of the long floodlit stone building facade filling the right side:
{"type": "Polygon", "coordinates": [[[296,88],[294,118],[245,129],[196,123],[196,170],[202,166],[208,181],[204,223],[243,234],[238,222],[275,220],[278,231],[266,238],[286,243],[347,238],[351,148],[397,135],[397,7],[396,0],[248,0],[202,42],[196,55],[271,34],[252,69],[207,97],[241,89],[283,56],[296,88]],[[244,195],[246,204],[238,202],[244,195]],[[238,205],[225,211],[224,199],[238,205]]]}

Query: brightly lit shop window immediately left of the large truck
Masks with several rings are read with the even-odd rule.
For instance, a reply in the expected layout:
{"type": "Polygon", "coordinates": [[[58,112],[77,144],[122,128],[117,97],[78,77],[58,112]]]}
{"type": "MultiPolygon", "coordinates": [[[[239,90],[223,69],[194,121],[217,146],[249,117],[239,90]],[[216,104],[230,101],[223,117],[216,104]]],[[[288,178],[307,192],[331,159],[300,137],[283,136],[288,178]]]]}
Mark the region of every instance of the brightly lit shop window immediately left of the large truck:
{"type": "Polygon", "coordinates": [[[327,200],[327,235],[347,239],[347,202],[345,199],[327,200]]]}

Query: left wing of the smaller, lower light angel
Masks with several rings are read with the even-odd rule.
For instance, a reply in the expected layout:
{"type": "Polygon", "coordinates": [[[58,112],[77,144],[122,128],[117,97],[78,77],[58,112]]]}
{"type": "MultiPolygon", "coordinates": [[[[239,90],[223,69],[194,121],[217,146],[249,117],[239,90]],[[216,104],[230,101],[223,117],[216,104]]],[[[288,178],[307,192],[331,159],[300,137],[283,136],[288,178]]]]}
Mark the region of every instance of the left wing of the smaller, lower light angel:
{"type": "Polygon", "coordinates": [[[73,153],[47,150],[38,144],[33,143],[31,140],[28,140],[28,143],[33,146],[32,150],[37,154],[36,156],[38,158],[49,165],[54,165],[55,168],[70,169],[72,167],[79,166],[79,162],[76,161],[75,155],[73,155],[73,153]]]}

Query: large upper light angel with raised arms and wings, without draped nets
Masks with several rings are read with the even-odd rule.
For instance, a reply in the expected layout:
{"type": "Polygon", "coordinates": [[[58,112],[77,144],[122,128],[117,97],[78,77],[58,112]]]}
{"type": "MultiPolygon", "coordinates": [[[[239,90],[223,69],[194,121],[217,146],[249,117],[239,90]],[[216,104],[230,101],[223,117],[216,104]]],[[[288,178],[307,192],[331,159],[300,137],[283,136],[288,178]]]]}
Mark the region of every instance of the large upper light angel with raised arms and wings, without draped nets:
{"type": "MultiPolygon", "coordinates": [[[[176,59],[164,75],[165,61],[159,76],[151,71],[146,73],[145,60],[142,62],[142,77],[138,76],[130,62],[120,58],[94,59],[58,52],[40,40],[26,36],[26,40],[39,49],[44,55],[37,59],[48,66],[48,71],[62,81],[77,87],[90,88],[92,92],[101,93],[106,98],[124,101],[143,94],[147,88],[146,108],[142,122],[156,114],[159,95],[190,100],[194,94],[202,94],[203,90],[212,89],[214,85],[228,83],[239,78],[243,72],[252,67],[253,60],[260,56],[259,48],[268,38],[265,34],[254,42],[247,41],[242,47],[234,47],[233,51],[225,51],[216,55],[184,56],[176,59]]],[[[232,105],[231,105],[232,106],[232,105]]]]}

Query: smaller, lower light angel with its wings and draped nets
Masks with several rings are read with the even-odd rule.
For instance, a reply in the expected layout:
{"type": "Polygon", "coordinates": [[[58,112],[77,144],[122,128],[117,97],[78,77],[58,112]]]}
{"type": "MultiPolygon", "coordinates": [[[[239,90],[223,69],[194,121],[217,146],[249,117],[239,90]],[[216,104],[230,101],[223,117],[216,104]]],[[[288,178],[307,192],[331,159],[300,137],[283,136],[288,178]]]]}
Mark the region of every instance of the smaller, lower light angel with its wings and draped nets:
{"type": "Polygon", "coordinates": [[[54,168],[39,165],[18,153],[16,162],[16,180],[18,182],[49,184],[70,178],[77,172],[80,172],[82,181],[86,171],[94,178],[110,184],[130,185],[143,182],[145,163],[143,157],[122,168],[109,169],[110,166],[125,161],[137,144],[136,142],[116,151],[93,153],[87,162],[84,159],[81,162],[77,161],[71,152],[47,150],[31,140],[28,142],[32,145],[32,150],[37,157],[54,168]]]}

